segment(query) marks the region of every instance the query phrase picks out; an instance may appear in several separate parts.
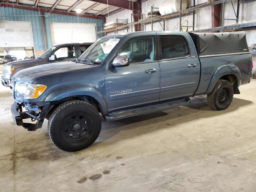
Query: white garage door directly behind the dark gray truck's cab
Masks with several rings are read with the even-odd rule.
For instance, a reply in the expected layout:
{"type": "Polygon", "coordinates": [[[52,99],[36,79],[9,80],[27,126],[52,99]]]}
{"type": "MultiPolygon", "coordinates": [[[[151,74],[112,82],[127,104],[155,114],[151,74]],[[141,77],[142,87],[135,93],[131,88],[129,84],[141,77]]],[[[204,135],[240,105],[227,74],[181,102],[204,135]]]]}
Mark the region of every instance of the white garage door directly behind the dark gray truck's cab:
{"type": "Polygon", "coordinates": [[[96,41],[96,25],[88,23],[51,22],[52,44],[93,43],[96,41]]]}

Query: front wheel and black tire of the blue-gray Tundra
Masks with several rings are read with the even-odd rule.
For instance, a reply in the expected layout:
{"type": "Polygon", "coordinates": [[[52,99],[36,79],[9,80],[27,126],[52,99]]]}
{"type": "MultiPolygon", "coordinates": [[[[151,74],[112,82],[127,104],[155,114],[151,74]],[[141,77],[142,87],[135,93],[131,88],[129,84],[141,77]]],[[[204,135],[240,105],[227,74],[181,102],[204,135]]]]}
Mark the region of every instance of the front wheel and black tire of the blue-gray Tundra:
{"type": "Polygon", "coordinates": [[[48,133],[54,145],[61,150],[74,152],[90,146],[101,130],[100,114],[88,102],[70,100],[52,112],[48,133]]]}

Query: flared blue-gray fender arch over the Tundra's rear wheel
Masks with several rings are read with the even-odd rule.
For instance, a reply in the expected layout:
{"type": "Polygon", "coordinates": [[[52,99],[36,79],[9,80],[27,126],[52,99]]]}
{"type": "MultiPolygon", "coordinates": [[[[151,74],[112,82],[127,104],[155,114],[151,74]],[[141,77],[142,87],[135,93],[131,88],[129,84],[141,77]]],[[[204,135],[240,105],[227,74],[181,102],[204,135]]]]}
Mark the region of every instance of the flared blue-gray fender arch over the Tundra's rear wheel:
{"type": "Polygon", "coordinates": [[[228,75],[228,74],[233,74],[233,75],[236,76],[236,79],[237,79],[237,82],[238,82],[237,86],[239,87],[240,84],[241,84],[241,72],[238,69],[238,67],[235,66],[235,65],[222,65],[212,75],[212,79],[210,81],[210,84],[209,84],[208,89],[207,89],[205,94],[210,93],[213,90],[214,86],[216,85],[217,81],[222,76],[228,75]]]}

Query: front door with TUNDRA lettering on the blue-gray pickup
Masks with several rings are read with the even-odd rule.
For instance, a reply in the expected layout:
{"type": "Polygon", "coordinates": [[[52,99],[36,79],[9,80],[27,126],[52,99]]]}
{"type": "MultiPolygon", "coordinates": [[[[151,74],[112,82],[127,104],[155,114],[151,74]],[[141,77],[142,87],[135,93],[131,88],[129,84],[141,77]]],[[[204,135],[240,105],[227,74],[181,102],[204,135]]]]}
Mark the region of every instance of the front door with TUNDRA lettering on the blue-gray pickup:
{"type": "Polygon", "coordinates": [[[128,56],[130,65],[116,68],[106,65],[109,112],[159,101],[160,66],[155,59],[155,39],[141,36],[128,40],[116,56],[128,56]]]}

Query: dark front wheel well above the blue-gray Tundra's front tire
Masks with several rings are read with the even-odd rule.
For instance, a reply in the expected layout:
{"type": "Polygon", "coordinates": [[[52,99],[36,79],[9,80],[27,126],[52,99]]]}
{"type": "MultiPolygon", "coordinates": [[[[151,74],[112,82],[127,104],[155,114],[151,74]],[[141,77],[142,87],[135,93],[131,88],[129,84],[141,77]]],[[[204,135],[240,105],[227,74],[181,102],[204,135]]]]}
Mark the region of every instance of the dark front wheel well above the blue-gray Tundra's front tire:
{"type": "Polygon", "coordinates": [[[101,108],[100,104],[97,102],[97,100],[95,100],[91,96],[78,95],[78,96],[72,96],[72,97],[64,98],[62,100],[59,100],[57,102],[52,103],[53,107],[50,109],[50,111],[46,115],[46,119],[50,118],[50,116],[51,116],[52,112],[54,111],[54,109],[57,106],[59,106],[61,103],[65,102],[65,101],[68,101],[68,100],[74,100],[74,99],[79,99],[79,100],[86,101],[86,102],[90,103],[92,106],[94,106],[98,110],[99,113],[102,113],[102,108],[101,108]]]}

